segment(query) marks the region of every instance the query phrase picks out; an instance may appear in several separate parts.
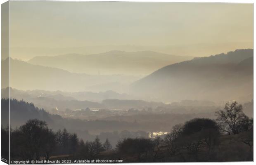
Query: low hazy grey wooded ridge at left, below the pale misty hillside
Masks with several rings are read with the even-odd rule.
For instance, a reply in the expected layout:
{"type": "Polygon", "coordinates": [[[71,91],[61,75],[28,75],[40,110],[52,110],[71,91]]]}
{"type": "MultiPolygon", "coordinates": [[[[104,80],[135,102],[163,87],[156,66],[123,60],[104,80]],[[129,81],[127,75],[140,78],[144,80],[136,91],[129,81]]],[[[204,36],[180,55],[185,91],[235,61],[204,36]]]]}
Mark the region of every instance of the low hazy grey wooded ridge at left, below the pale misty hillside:
{"type": "MultiPolygon", "coordinates": [[[[103,92],[100,92],[103,93],[103,92]]],[[[108,93],[108,92],[107,92],[108,93]]],[[[105,93],[105,94],[107,94],[105,93]]],[[[113,92],[112,92],[113,93],[113,92]]],[[[44,108],[47,112],[56,112],[56,107],[59,111],[65,111],[66,109],[76,110],[76,109],[85,109],[85,108],[148,108],[148,107],[157,107],[163,106],[163,103],[158,102],[147,102],[143,100],[135,99],[125,99],[125,97],[120,97],[112,99],[104,98],[100,102],[93,102],[88,100],[77,100],[75,97],[78,97],[77,94],[88,94],[87,92],[78,92],[78,93],[65,93],[61,91],[43,91],[43,90],[34,90],[34,91],[22,91],[10,88],[10,97],[11,99],[24,100],[27,102],[33,102],[35,106],[39,108],[44,108]],[[71,96],[74,97],[71,97],[71,96]]],[[[92,94],[89,92],[89,94],[92,94]]],[[[117,94],[117,93],[115,93],[117,94]]],[[[1,97],[7,99],[9,96],[8,88],[1,89],[1,97]]],[[[87,96],[90,97],[91,95],[87,96]]],[[[81,96],[79,96],[81,97],[81,96]]],[[[83,96],[82,96],[83,97],[83,96]]],[[[85,95],[86,97],[86,95],[85,95]]]]}

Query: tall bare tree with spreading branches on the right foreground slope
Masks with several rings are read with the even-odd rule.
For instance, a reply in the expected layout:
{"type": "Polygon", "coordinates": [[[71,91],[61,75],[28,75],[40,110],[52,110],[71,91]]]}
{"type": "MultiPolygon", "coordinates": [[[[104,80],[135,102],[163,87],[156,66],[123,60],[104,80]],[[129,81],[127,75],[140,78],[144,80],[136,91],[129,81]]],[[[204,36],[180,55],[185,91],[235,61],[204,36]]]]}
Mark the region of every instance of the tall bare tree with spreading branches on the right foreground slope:
{"type": "Polygon", "coordinates": [[[231,104],[227,103],[223,110],[216,111],[218,118],[216,121],[220,125],[220,129],[228,134],[239,133],[239,123],[247,119],[247,116],[243,113],[241,104],[237,104],[236,101],[231,104]]]}

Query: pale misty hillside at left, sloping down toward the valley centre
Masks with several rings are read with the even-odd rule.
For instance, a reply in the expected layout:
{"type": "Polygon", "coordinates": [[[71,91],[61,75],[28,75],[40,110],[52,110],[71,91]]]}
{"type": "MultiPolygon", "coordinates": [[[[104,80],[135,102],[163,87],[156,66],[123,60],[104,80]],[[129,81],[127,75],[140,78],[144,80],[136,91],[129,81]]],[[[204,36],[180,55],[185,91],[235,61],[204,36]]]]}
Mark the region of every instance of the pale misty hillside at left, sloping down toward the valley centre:
{"type": "MultiPolygon", "coordinates": [[[[88,75],[71,73],[63,69],[29,64],[17,59],[1,61],[2,69],[10,62],[10,86],[20,90],[61,90],[63,92],[113,90],[123,92],[126,85],[140,77],[127,75],[88,75]]],[[[7,73],[2,74],[8,77],[7,73]],[[6,74],[6,75],[4,75],[6,74]]],[[[9,86],[1,84],[1,88],[9,86]]]]}

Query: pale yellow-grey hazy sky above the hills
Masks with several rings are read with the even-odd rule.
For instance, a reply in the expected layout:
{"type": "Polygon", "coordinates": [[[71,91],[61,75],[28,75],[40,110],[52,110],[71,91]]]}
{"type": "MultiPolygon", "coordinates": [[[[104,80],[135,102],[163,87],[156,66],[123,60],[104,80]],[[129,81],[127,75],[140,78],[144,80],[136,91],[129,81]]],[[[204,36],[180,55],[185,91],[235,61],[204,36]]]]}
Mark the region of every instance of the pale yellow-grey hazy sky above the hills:
{"type": "Polygon", "coordinates": [[[153,50],[208,56],[253,47],[253,5],[10,2],[11,56],[153,50]]]}

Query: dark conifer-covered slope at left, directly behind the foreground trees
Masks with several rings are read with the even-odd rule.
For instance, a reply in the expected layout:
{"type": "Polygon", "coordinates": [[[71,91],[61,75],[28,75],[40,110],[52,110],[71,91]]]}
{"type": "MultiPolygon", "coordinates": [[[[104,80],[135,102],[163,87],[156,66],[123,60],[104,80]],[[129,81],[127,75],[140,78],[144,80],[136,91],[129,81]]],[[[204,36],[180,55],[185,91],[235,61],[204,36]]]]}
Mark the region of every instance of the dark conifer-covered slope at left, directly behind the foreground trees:
{"type": "MultiPolygon", "coordinates": [[[[136,129],[135,123],[120,122],[114,120],[80,120],[80,119],[68,119],[62,118],[60,115],[52,115],[46,112],[44,109],[40,109],[34,106],[33,103],[25,101],[18,101],[16,99],[10,99],[10,105],[12,111],[10,113],[11,127],[16,128],[26,123],[29,119],[39,119],[46,121],[50,128],[53,130],[66,128],[71,132],[76,132],[80,137],[88,136],[90,132],[103,132],[103,131],[122,131],[124,129],[136,129]]],[[[9,99],[1,99],[1,116],[2,123],[6,123],[3,127],[7,126],[8,118],[3,116],[9,116],[9,99]]]]}

